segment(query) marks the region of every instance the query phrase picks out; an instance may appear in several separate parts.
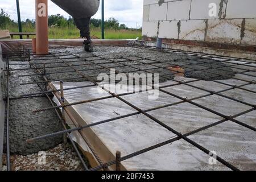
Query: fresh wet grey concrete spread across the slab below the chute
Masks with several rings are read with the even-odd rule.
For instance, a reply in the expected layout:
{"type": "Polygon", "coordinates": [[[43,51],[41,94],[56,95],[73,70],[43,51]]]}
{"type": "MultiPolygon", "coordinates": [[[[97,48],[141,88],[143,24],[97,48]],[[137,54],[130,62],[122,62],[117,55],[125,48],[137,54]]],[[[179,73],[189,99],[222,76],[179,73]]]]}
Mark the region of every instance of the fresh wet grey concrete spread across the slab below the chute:
{"type": "MultiPolygon", "coordinates": [[[[85,52],[83,48],[67,48],[67,49],[59,49],[52,51],[57,56],[61,55],[67,55],[68,53],[74,53],[77,56],[80,57],[88,57],[86,60],[81,62],[81,60],[84,60],[84,58],[80,59],[73,55],[70,56],[61,56],[62,60],[56,59],[53,61],[59,61],[58,64],[47,64],[47,67],[57,66],[57,65],[65,65],[64,63],[61,63],[63,60],[65,61],[77,61],[71,63],[72,65],[79,64],[79,66],[75,66],[76,69],[79,69],[82,74],[85,76],[93,76],[94,80],[97,80],[97,75],[100,75],[101,73],[107,73],[109,74],[110,71],[108,69],[103,69],[101,66],[104,67],[115,67],[115,71],[117,72],[126,72],[128,73],[146,73],[144,71],[145,69],[150,69],[149,72],[151,73],[159,73],[159,82],[167,81],[170,79],[173,79],[175,75],[171,74],[170,71],[168,71],[166,68],[173,67],[176,65],[179,65],[180,67],[184,68],[185,70],[185,77],[188,78],[201,78],[202,80],[226,80],[230,76],[234,76],[234,72],[232,72],[232,69],[225,67],[228,64],[218,62],[218,63],[212,63],[215,62],[214,60],[209,59],[200,59],[199,57],[192,56],[192,55],[185,55],[180,53],[174,53],[174,52],[158,52],[158,51],[152,51],[149,49],[141,49],[141,48],[132,48],[132,47],[112,47],[112,46],[96,46],[94,47],[93,53],[85,52]],[[97,57],[89,57],[89,56],[100,56],[105,59],[109,60],[98,60],[97,57]],[[73,59],[67,59],[72,58],[73,59]],[[143,60],[143,58],[145,60],[143,60]],[[125,59],[127,61],[125,61],[125,59]],[[148,60],[150,59],[150,60],[148,60]],[[114,61],[114,63],[110,63],[111,61],[114,61]],[[158,61],[162,61],[164,63],[159,63],[158,61]],[[81,64],[92,64],[97,63],[99,65],[81,65],[81,64]],[[146,63],[144,65],[140,65],[141,63],[146,63]],[[123,65],[132,65],[131,67],[123,67],[123,65]],[[138,65],[135,65],[138,64],[138,65]],[[118,67],[120,66],[120,67],[118,67]],[[155,67],[154,67],[155,66],[155,67]],[[161,67],[161,68],[159,68],[161,67]],[[98,68],[98,69],[97,69],[98,68]],[[155,69],[154,69],[155,68],[155,69]],[[216,69],[216,68],[222,68],[216,69]],[[85,69],[96,69],[96,70],[90,70],[90,71],[84,71],[85,69]],[[140,70],[141,69],[141,70],[140,70]],[[168,74],[168,76],[167,76],[168,74]],[[224,75],[224,76],[223,76],[224,75]]],[[[35,61],[35,63],[39,63],[40,61],[35,61]]],[[[49,61],[46,61],[48,63],[49,61]]],[[[50,72],[61,72],[61,71],[70,71],[68,73],[56,73],[47,75],[49,80],[53,79],[65,79],[70,77],[81,77],[79,73],[76,73],[73,71],[72,68],[64,67],[64,68],[47,68],[47,73],[50,72]]],[[[72,80],[73,82],[79,82],[79,81],[89,81],[85,78],[72,80]]]]}

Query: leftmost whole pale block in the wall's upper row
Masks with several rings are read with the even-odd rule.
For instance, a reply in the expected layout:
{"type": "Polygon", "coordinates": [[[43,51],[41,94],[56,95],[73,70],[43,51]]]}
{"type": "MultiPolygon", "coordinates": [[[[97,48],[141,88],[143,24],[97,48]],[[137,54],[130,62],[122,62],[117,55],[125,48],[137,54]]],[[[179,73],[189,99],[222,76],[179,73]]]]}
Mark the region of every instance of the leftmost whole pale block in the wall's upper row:
{"type": "Polygon", "coordinates": [[[163,3],[162,5],[150,5],[150,13],[149,13],[149,20],[166,20],[167,14],[167,3],[163,3]]]}

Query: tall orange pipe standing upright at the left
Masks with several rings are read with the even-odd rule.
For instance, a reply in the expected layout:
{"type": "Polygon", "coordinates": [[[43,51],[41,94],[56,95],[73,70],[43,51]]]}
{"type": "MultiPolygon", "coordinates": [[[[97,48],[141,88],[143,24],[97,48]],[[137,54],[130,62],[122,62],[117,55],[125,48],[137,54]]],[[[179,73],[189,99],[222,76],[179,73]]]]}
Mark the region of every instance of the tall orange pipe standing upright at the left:
{"type": "Polygon", "coordinates": [[[35,0],[36,54],[47,55],[48,49],[48,0],[35,0]]]}

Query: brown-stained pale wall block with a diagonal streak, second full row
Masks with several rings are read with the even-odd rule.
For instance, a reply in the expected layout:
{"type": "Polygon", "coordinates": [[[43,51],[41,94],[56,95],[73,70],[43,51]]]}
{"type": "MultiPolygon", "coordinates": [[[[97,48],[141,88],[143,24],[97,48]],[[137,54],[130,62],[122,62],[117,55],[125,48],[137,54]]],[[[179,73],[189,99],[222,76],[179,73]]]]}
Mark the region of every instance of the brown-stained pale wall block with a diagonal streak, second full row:
{"type": "Polygon", "coordinates": [[[179,39],[204,40],[205,20],[181,20],[179,39]]]}

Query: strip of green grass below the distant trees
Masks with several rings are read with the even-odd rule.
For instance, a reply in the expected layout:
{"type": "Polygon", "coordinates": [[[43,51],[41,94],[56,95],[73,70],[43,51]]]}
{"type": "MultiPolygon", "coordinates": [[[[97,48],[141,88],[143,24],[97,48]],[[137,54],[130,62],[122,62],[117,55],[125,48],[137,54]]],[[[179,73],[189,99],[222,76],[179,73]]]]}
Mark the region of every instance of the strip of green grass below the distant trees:
{"type": "MultiPolygon", "coordinates": [[[[18,27],[9,26],[7,29],[10,32],[18,32],[18,27]]],[[[31,26],[23,26],[23,32],[35,32],[35,28],[31,26]]],[[[93,38],[101,38],[101,28],[91,28],[91,36],[93,38]]],[[[76,27],[52,27],[49,28],[49,39],[78,39],[80,37],[79,30],[76,27]]],[[[141,39],[142,32],[136,30],[105,30],[105,39],[141,39]]],[[[31,36],[30,38],[33,38],[31,36]]],[[[19,36],[14,36],[14,39],[19,39],[19,36]]]]}

